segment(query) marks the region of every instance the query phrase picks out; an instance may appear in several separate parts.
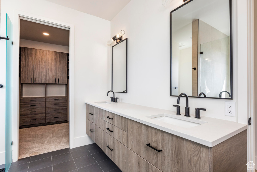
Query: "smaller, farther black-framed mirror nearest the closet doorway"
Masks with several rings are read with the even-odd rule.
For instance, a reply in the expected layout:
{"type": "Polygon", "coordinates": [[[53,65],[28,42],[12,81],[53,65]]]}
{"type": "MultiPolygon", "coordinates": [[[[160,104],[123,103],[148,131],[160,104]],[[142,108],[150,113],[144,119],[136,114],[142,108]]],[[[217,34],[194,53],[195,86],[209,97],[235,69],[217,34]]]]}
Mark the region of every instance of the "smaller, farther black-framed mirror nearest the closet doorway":
{"type": "Polygon", "coordinates": [[[112,46],[112,91],[127,93],[127,38],[112,46]]]}

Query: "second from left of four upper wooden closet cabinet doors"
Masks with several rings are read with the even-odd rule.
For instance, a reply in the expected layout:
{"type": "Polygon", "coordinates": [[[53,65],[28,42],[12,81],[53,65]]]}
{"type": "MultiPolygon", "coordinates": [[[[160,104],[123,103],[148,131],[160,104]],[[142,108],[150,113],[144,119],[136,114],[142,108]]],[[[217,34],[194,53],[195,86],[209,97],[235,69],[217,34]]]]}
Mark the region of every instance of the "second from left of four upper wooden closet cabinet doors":
{"type": "Polygon", "coordinates": [[[45,83],[45,50],[34,49],[34,83],[45,83]]]}

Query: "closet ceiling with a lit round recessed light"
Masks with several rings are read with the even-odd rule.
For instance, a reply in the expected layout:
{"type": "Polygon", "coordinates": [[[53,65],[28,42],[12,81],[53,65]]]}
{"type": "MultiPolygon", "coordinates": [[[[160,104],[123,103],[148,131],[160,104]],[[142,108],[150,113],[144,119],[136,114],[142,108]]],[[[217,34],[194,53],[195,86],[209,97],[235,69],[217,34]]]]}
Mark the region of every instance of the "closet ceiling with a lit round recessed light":
{"type": "Polygon", "coordinates": [[[69,46],[70,31],[21,19],[20,39],[69,46]],[[43,35],[43,33],[49,35],[43,35]]]}

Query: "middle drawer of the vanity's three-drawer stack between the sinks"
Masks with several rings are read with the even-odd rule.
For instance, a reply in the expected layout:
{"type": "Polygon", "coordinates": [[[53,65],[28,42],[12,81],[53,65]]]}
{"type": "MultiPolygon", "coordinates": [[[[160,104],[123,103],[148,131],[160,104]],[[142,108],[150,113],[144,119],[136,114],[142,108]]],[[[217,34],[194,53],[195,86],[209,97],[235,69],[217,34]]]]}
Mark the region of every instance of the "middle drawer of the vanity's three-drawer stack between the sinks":
{"type": "Polygon", "coordinates": [[[109,122],[100,119],[99,127],[106,133],[114,137],[116,140],[127,146],[127,132],[110,124],[109,122]]]}

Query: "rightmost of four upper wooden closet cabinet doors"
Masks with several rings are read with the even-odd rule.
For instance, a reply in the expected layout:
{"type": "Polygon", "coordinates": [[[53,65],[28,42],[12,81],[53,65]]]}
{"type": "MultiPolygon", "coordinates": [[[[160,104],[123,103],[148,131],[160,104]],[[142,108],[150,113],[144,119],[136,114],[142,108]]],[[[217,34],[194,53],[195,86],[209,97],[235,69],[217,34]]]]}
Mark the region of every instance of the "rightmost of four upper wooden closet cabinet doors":
{"type": "Polygon", "coordinates": [[[67,84],[67,53],[57,52],[57,84],[67,84]]]}

